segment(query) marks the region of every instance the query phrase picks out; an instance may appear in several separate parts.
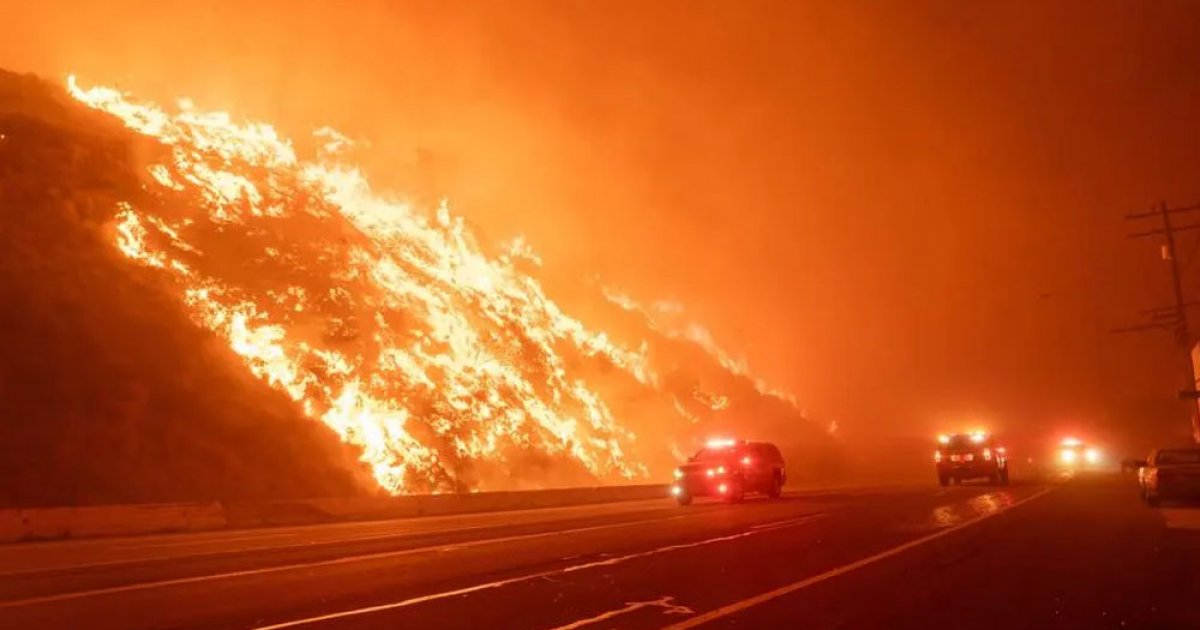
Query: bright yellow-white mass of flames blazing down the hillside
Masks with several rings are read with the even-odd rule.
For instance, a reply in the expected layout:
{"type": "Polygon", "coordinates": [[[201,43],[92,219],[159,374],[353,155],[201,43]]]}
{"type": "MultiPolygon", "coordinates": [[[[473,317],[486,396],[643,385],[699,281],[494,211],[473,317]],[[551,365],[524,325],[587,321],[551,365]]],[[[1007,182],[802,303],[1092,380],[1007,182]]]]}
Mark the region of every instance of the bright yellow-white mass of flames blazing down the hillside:
{"type": "Polygon", "coordinates": [[[487,256],[444,203],[424,212],[373,192],[331,130],[300,158],[270,125],[187,101],[168,113],[73,77],[67,89],[156,140],[145,194],[116,209],[118,250],[257,377],[358,445],[388,492],[478,490],[480,467],[503,474],[528,454],[596,479],[648,474],[629,454],[636,436],[578,368],[656,388],[647,346],[563,313],[520,271],[539,263],[520,239],[487,256]]]}

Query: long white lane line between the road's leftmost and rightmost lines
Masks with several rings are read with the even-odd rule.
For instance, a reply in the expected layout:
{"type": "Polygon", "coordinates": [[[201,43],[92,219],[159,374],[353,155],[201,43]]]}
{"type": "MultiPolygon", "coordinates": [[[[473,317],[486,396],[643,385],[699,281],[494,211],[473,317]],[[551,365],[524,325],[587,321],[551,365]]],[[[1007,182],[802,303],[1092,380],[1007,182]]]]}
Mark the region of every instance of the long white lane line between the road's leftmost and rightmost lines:
{"type": "MultiPolygon", "coordinates": [[[[820,518],[823,518],[824,516],[826,515],[821,514],[821,512],[812,514],[811,516],[809,516],[808,518],[805,518],[804,522],[817,521],[820,518]]],[[[794,524],[800,524],[794,518],[790,518],[787,521],[780,521],[780,523],[791,523],[793,526],[794,524]]],[[[785,526],[780,526],[780,527],[785,527],[785,526]]],[[[740,532],[738,534],[727,534],[727,535],[724,535],[724,536],[716,536],[716,538],[709,538],[709,539],[704,539],[704,540],[697,540],[695,542],[682,542],[682,544],[678,544],[678,545],[667,545],[665,547],[658,547],[658,548],[653,548],[653,550],[649,550],[649,551],[641,551],[641,552],[637,552],[637,553],[629,553],[629,554],[625,554],[625,556],[614,556],[612,558],[605,558],[602,560],[594,560],[594,562],[588,562],[588,563],[582,563],[582,564],[574,564],[571,566],[563,566],[563,568],[559,568],[559,569],[550,569],[547,571],[540,571],[540,572],[536,572],[536,574],[520,575],[520,576],[516,576],[516,577],[508,577],[508,578],[504,578],[504,580],[497,580],[494,582],[485,582],[485,583],[481,583],[481,584],[473,584],[473,586],[458,588],[458,589],[455,589],[455,590],[445,590],[445,592],[442,592],[442,593],[432,593],[430,595],[420,595],[420,596],[416,596],[416,598],[409,598],[409,599],[406,599],[406,600],[402,600],[402,601],[395,601],[395,602],[391,602],[391,604],[380,604],[378,606],[367,606],[365,608],[352,608],[352,610],[348,610],[348,611],[338,611],[338,612],[331,612],[331,613],[328,613],[328,614],[318,614],[316,617],[306,617],[306,618],[302,618],[302,619],[293,619],[293,620],[289,620],[289,622],[281,622],[281,623],[271,624],[271,625],[260,625],[260,626],[257,626],[257,628],[254,628],[252,630],[280,630],[280,629],[283,629],[283,628],[296,628],[296,626],[301,626],[301,625],[316,624],[316,623],[322,623],[322,622],[331,622],[331,620],[335,620],[335,619],[344,619],[347,617],[358,617],[358,616],[361,616],[361,614],[371,614],[371,613],[376,613],[376,612],[392,611],[392,610],[397,610],[397,608],[404,608],[404,607],[408,607],[408,606],[415,606],[418,604],[425,604],[427,601],[436,601],[436,600],[439,600],[439,599],[454,598],[454,596],[458,596],[458,595],[467,595],[467,594],[476,593],[476,592],[480,592],[480,590],[488,590],[488,589],[493,589],[493,588],[500,588],[500,587],[504,587],[504,586],[508,586],[508,584],[516,584],[518,582],[528,582],[530,580],[541,580],[544,577],[550,577],[550,576],[556,576],[556,575],[574,574],[576,571],[584,571],[587,569],[595,569],[598,566],[612,566],[614,564],[626,563],[629,560],[634,560],[634,559],[637,559],[637,558],[647,558],[647,557],[650,557],[650,556],[656,556],[659,553],[668,553],[668,552],[672,552],[672,551],[686,550],[686,548],[692,548],[692,547],[702,547],[702,546],[706,546],[706,545],[714,545],[716,542],[726,542],[726,541],[730,541],[730,540],[738,540],[738,539],[742,539],[742,538],[754,536],[754,535],[758,535],[758,534],[762,534],[762,533],[766,533],[766,532],[773,532],[773,530],[776,530],[776,529],[779,529],[779,527],[772,528],[772,529],[746,529],[745,532],[740,532]]]]}

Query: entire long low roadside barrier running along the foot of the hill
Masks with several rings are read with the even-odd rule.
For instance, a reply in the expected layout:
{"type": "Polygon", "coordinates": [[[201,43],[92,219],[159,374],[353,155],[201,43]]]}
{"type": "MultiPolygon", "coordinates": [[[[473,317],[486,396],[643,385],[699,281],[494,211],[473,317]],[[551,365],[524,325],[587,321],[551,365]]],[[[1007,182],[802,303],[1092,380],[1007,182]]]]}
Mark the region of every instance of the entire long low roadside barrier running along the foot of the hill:
{"type": "Polygon", "coordinates": [[[563,508],[667,497],[667,486],[0,510],[0,542],[204,532],[563,508]]]}

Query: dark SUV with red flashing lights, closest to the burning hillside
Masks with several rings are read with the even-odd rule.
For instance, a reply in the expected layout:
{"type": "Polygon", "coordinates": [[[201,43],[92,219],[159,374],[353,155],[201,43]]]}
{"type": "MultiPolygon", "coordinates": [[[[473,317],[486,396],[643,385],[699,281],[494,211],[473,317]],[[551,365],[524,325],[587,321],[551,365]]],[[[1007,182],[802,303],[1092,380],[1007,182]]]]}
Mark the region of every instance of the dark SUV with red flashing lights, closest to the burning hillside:
{"type": "Polygon", "coordinates": [[[696,497],[737,503],[749,492],[779,498],[786,482],[784,455],[774,444],[714,439],[676,468],[671,494],[679,505],[690,505],[696,497]]]}

